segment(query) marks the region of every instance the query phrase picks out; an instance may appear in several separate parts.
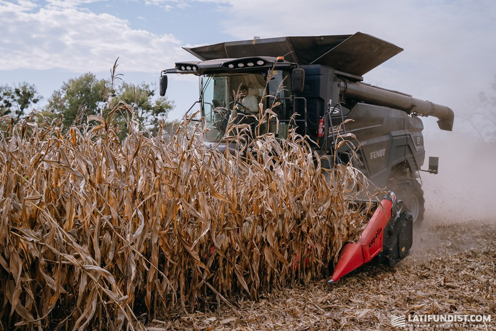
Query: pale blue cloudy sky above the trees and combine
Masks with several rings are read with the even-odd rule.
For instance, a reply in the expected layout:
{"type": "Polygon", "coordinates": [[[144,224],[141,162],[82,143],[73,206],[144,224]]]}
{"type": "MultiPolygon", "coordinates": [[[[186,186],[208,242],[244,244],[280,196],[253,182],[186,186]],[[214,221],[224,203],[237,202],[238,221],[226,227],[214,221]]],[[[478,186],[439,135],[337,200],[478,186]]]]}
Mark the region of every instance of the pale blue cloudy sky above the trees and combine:
{"type": "MultiPolygon", "coordinates": [[[[460,111],[496,74],[492,0],[0,0],[0,84],[29,82],[48,98],[91,71],[133,83],[192,59],[182,46],[287,35],[376,36],[405,50],[366,81],[460,111]]],[[[197,98],[194,76],[174,76],[179,118],[197,98]]]]}

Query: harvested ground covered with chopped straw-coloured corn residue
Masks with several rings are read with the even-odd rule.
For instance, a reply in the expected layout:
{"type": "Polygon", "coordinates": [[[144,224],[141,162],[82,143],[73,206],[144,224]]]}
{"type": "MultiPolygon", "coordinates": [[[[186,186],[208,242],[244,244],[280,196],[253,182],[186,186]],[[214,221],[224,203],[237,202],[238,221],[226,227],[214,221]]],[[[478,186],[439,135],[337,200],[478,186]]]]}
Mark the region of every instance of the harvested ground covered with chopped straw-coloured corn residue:
{"type": "MultiPolygon", "coordinates": [[[[426,215],[427,216],[427,215],[426,215]]],[[[427,216],[414,233],[411,254],[394,268],[365,265],[336,284],[266,293],[258,302],[221,303],[215,312],[154,320],[163,330],[496,330],[496,219],[427,216]],[[391,315],[491,315],[490,323],[408,322],[391,315]]]]}

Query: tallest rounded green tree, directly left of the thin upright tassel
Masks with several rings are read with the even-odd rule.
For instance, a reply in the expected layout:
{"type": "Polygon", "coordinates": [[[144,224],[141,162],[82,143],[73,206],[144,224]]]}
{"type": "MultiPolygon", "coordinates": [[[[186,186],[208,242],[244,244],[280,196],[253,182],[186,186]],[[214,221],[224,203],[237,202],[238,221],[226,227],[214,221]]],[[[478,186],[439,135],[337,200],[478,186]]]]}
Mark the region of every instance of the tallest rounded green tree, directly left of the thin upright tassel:
{"type": "Polygon", "coordinates": [[[63,82],[60,90],[54,91],[48,102],[48,110],[63,115],[64,128],[78,124],[88,115],[97,115],[107,103],[109,82],[97,79],[87,72],[77,78],[63,82]]]}

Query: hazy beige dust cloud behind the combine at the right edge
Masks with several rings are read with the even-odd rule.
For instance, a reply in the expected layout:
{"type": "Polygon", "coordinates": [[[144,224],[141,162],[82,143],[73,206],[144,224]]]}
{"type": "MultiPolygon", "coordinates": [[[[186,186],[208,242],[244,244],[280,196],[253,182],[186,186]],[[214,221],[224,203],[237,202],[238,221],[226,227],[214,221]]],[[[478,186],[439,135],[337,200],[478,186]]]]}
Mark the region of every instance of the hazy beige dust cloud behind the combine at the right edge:
{"type": "Polygon", "coordinates": [[[439,157],[439,173],[421,172],[425,222],[496,223],[496,143],[459,132],[425,136],[426,160],[439,157]]]}

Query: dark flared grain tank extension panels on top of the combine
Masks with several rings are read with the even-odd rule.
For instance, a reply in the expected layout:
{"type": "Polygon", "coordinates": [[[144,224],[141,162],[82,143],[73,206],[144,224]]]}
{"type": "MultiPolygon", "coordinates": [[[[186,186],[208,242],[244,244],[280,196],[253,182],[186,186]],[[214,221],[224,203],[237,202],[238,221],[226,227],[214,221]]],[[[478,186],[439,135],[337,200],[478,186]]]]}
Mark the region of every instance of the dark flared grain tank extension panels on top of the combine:
{"type": "Polygon", "coordinates": [[[358,76],[403,51],[396,45],[362,32],[353,35],[253,39],[184,49],[202,61],[284,56],[287,61],[301,66],[331,66],[358,76]]]}

